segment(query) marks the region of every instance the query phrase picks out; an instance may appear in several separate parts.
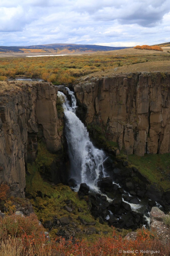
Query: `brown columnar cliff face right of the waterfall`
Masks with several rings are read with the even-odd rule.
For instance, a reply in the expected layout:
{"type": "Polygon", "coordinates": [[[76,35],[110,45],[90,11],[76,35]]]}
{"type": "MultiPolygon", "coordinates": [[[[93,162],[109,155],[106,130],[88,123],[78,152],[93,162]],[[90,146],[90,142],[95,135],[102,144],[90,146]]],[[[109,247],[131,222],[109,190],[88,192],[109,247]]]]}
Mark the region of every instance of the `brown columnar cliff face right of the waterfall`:
{"type": "Polygon", "coordinates": [[[74,86],[86,124],[104,125],[127,154],[170,152],[170,75],[131,73],[74,86]]]}

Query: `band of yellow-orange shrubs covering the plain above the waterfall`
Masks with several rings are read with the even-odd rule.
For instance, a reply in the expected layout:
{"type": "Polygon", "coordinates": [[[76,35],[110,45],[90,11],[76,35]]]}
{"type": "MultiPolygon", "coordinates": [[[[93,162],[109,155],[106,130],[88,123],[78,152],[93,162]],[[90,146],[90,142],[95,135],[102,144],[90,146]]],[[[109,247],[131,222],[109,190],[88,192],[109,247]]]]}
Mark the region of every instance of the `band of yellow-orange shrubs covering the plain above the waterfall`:
{"type": "MultiPolygon", "coordinates": [[[[156,48],[154,48],[156,49],[156,48]]],[[[160,48],[161,49],[161,48],[160,48]]],[[[162,49],[161,49],[162,50],[162,49]]],[[[157,57],[138,55],[119,55],[114,52],[107,55],[93,54],[80,56],[43,56],[33,58],[8,58],[2,59],[0,63],[0,80],[8,76],[42,78],[55,84],[69,84],[76,77],[85,76],[97,71],[104,71],[113,66],[130,65],[146,61],[157,60],[157,57]]],[[[159,61],[165,57],[159,57],[159,61]]]]}

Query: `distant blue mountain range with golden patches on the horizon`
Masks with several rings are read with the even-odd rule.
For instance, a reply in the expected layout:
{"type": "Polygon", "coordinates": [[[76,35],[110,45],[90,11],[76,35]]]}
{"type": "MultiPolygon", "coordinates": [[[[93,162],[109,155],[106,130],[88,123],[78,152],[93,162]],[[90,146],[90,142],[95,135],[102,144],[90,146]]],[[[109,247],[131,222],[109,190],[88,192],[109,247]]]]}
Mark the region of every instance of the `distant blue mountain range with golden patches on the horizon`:
{"type": "Polygon", "coordinates": [[[47,44],[47,45],[29,45],[29,46],[0,46],[0,52],[20,52],[20,53],[78,53],[95,51],[113,51],[131,47],[110,47],[101,45],[77,45],[77,44],[47,44]]]}

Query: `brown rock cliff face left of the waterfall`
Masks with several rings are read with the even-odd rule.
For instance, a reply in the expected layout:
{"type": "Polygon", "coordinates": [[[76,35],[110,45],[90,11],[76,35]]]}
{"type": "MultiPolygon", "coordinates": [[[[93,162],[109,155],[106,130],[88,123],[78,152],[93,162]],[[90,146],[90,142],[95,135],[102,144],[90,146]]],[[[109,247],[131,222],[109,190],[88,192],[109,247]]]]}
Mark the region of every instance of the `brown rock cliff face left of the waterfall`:
{"type": "Polygon", "coordinates": [[[55,87],[38,83],[29,91],[0,97],[0,184],[7,182],[14,196],[24,196],[25,168],[36,157],[37,137],[51,152],[61,148],[55,87]]]}

